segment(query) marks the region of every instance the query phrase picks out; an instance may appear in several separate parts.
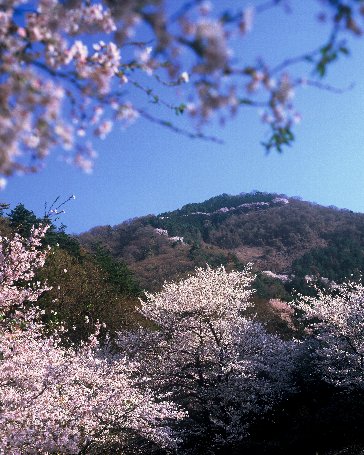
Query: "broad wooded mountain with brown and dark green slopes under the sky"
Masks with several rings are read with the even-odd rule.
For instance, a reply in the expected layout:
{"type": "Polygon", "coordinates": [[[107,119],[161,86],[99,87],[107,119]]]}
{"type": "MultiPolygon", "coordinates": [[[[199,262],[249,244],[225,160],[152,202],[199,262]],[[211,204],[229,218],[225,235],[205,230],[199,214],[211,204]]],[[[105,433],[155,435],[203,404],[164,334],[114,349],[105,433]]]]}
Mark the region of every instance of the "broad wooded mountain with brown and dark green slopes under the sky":
{"type": "Polygon", "coordinates": [[[149,290],[206,263],[252,262],[267,279],[296,288],[306,275],[342,281],[364,270],[364,214],[258,191],[95,227],[79,241],[107,248],[149,290]]]}

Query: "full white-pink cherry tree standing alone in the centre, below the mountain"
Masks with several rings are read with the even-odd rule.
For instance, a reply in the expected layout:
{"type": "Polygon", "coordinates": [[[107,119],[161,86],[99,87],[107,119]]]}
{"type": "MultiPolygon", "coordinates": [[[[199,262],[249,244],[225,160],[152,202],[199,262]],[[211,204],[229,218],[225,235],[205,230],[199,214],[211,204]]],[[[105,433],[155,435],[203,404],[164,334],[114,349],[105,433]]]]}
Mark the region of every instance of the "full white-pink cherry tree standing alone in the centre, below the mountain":
{"type": "Polygon", "coordinates": [[[141,329],[134,339],[120,334],[141,373],[150,372],[153,386],[188,411],[187,433],[196,437],[197,452],[201,444],[203,453],[215,453],[242,439],[254,416],[292,386],[294,343],[268,334],[245,314],[253,279],[249,268],[197,269],[141,300],[141,314],[156,330],[141,329]]]}

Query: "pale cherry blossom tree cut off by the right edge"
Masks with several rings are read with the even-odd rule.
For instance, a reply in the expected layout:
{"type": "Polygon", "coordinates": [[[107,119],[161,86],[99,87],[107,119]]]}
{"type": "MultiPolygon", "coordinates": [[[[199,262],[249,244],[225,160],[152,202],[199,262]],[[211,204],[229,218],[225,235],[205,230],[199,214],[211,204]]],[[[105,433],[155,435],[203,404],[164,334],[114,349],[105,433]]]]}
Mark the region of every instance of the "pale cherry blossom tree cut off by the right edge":
{"type": "Polygon", "coordinates": [[[347,282],[295,303],[318,341],[317,368],[343,388],[364,389],[364,287],[347,282]]]}

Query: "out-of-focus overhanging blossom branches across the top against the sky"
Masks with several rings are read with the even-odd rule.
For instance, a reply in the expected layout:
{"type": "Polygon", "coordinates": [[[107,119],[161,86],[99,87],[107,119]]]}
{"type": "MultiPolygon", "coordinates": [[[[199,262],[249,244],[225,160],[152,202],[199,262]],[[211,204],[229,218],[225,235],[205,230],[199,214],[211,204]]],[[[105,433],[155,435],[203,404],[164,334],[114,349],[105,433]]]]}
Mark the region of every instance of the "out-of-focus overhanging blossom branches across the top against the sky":
{"type": "MultiPolygon", "coordinates": [[[[217,3],[217,2],[216,2],[217,3]]],[[[293,2],[294,3],[294,2],[293,2]]],[[[281,150],[299,119],[292,99],[302,84],[288,69],[305,62],[319,77],[348,50],[339,38],[362,33],[362,3],[321,1],[321,20],[332,23],[326,43],[269,67],[241,62],[231,52],[258,19],[287,0],[223,9],[192,0],[1,0],[0,173],[34,171],[55,146],[84,170],[92,168],[92,134],[104,138],[115,121],[142,116],[191,137],[201,125],[255,106],[271,129],[265,146],[281,150]],[[180,102],[174,103],[173,90],[180,102]],[[140,92],[176,114],[188,112],[188,132],[138,105],[140,92]]],[[[294,7],[294,5],[293,5],[294,7]]],[[[214,139],[214,138],[210,138],[214,139]]]]}

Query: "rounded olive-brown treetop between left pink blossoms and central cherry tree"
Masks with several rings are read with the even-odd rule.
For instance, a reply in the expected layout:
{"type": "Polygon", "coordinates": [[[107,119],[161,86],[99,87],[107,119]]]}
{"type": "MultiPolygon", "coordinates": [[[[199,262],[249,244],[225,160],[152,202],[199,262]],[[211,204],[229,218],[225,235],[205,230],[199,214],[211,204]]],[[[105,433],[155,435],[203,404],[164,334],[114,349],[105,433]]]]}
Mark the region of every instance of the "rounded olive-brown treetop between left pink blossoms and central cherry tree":
{"type": "MultiPolygon", "coordinates": [[[[107,272],[85,253],[79,261],[62,249],[53,249],[38,278],[52,286],[39,299],[44,323],[50,330],[65,325],[67,338],[73,342],[87,340],[97,320],[114,333],[140,319],[134,310],[136,298],[126,292],[124,282],[111,282],[107,272]]],[[[101,332],[104,335],[105,330],[101,332]]]]}

